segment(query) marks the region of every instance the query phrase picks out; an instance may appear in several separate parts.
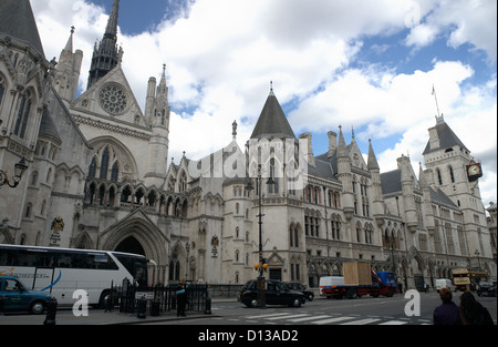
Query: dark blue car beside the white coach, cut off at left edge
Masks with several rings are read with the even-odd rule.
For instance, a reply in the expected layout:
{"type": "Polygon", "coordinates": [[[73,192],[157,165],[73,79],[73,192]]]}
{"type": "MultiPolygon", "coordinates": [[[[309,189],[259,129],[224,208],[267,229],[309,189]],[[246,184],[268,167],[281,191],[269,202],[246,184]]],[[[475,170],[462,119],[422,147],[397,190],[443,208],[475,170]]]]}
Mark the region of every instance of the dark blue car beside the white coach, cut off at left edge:
{"type": "Polygon", "coordinates": [[[50,299],[49,293],[29,290],[15,277],[0,276],[0,310],[40,315],[50,299]]]}

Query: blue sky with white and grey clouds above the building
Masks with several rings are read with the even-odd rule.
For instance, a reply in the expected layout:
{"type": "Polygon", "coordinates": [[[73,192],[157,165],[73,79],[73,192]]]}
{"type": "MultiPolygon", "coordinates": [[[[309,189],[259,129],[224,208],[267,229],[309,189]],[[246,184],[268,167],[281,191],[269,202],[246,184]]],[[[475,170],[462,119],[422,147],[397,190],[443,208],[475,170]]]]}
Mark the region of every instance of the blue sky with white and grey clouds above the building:
{"type": "MultiPolygon", "coordinates": [[[[113,0],[31,0],[46,58],[59,59],[70,28],[84,52],[113,0]]],[[[167,64],[170,156],[199,159],[250,137],[273,81],[295,134],[314,154],[328,131],[372,140],[382,172],[409,155],[423,162],[437,114],[483,161],[483,201],[497,202],[496,0],[121,0],[123,70],[145,104],[149,76],[167,64]]]]}

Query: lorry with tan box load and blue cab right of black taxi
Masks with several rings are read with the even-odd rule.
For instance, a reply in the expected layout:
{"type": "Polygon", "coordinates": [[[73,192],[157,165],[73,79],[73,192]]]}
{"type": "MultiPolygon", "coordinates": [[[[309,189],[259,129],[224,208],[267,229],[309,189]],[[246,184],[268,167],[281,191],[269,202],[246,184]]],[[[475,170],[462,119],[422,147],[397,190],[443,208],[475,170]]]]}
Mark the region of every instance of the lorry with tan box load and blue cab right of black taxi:
{"type": "Polygon", "coordinates": [[[320,295],[326,298],[355,298],[363,295],[391,297],[397,292],[392,272],[374,272],[369,262],[343,264],[344,276],[320,278],[320,295]]]}

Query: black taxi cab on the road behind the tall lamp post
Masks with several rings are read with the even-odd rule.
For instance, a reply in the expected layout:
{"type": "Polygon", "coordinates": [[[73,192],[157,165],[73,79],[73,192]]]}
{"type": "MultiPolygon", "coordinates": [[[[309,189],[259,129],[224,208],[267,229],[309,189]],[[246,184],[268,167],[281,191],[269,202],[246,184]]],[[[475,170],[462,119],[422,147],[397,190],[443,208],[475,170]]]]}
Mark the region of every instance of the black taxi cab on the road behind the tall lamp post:
{"type": "MultiPolygon", "coordinates": [[[[267,305],[288,305],[300,307],[305,303],[301,292],[292,290],[280,280],[266,279],[264,294],[267,305]]],[[[246,283],[239,294],[240,302],[247,307],[258,307],[258,280],[251,279],[246,283]]]]}

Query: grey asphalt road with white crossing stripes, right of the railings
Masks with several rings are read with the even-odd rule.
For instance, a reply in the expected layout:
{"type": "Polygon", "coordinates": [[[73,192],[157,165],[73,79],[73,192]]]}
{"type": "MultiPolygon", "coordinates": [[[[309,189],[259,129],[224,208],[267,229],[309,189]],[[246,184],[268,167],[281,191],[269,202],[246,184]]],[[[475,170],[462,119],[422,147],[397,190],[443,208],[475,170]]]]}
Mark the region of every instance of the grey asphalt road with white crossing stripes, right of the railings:
{"type": "MultiPolygon", "coordinates": [[[[391,298],[363,297],[353,300],[318,298],[302,307],[269,306],[266,309],[247,308],[239,303],[217,303],[214,317],[196,317],[189,320],[143,322],[160,325],[432,325],[434,308],[440,305],[437,293],[421,294],[419,315],[406,316],[409,298],[395,295],[391,298]]],[[[478,298],[497,322],[497,299],[478,298]]],[[[455,295],[459,302],[459,294],[455,295]]]]}

